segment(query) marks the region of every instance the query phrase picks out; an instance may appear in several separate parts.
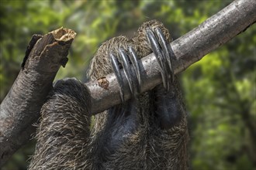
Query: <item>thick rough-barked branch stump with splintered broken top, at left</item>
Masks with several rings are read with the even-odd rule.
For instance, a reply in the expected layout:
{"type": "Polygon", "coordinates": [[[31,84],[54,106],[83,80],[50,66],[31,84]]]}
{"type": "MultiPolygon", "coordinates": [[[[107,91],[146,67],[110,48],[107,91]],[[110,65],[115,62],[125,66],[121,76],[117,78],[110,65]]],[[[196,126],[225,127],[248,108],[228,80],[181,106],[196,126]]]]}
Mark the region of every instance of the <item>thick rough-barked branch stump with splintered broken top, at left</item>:
{"type": "Polygon", "coordinates": [[[75,32],[57,29],[45,36],[34,35],[29,42],[22,69],[0,105],[0,167],[35,131],[33,123],[52,88],[75,32]]]}

